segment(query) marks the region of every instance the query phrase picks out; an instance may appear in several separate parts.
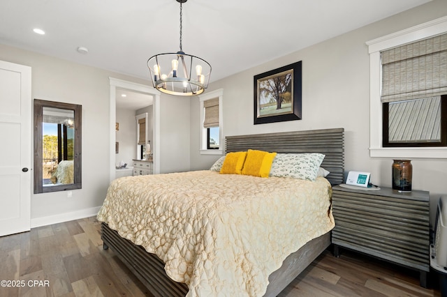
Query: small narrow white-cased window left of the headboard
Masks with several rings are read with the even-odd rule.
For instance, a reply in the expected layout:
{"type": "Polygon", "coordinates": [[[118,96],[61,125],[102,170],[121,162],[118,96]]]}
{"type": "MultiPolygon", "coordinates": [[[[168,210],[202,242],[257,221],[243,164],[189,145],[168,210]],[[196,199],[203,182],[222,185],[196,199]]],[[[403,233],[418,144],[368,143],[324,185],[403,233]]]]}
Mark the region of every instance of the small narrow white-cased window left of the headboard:
{"type": "Polygon", "coordinates": [[[212,91],[199,97],[200,101],[200,153],[222,154],[221,146],[223,90],[212,91]]]}

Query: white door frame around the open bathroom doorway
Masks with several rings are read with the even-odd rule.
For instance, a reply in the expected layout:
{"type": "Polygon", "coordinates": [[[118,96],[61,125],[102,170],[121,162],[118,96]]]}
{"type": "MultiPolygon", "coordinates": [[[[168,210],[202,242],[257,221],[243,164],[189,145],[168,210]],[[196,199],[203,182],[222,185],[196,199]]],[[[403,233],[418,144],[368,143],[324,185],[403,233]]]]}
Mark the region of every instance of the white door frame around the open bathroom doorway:
{"type": "Polygon", "coordinates": [[[154,96],[154,144],[151,144],[151,149],[154,152],[154,174],[160,173],[160,91],[145,86],[144,84],[137,84],[123,79],[109,77],[110,82],[110,181],[115,179],[115,123],[117,119],[116,106],[116,90],[126,89],[138,93],[144,93],[154,96]]]}

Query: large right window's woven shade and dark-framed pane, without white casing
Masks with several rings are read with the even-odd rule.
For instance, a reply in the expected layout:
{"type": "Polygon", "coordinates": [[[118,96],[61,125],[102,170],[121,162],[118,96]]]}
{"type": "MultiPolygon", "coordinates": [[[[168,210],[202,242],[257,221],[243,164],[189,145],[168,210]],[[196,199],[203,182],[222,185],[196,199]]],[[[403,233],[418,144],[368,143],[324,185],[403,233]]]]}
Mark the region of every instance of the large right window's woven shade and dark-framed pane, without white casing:
{"type": "Polygon", "coordinates": [[[384,50],[381,64],[383,146],[446,146],[447,33],[384,50]]]}

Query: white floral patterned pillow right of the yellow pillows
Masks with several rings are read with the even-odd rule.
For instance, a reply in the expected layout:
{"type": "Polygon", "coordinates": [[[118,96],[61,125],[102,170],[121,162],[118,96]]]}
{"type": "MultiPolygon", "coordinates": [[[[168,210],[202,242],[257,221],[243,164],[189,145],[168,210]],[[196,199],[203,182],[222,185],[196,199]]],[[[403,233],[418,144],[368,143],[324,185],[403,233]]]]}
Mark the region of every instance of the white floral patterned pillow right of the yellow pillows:
{"type": "Polygon", "coordinates": [[[315,181],[324,157],[322,153],[278,153],[273,159],[270,176],[315,181]]]}

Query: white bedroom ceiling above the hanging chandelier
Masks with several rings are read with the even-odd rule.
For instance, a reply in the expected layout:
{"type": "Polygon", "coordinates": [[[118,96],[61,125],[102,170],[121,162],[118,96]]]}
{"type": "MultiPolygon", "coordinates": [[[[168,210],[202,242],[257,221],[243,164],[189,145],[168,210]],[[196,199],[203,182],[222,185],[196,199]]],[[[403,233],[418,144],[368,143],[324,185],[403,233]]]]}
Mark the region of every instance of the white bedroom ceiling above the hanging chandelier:
{"type": "MultiPolygon", "coordinates": [[[[182,45],[215,81],[428,1],[189,0],[182,45]]],[[[179,3],[1,0],[0,43],[148,79],[150,56],[179,50],[179,3]]]]}

